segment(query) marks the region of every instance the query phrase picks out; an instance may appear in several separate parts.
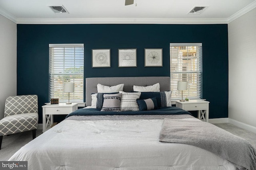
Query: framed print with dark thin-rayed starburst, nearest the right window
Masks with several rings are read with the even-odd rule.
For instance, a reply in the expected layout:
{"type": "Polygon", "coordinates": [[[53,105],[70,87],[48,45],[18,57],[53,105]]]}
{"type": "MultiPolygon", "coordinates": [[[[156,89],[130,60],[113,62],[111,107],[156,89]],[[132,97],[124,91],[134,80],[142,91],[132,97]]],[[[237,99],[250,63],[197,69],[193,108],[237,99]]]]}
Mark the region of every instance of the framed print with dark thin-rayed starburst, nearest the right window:
{"type": "Polygon", "coordinates": [[[163,66],[163,49],[145,49],[145,67],[163,66]]]}

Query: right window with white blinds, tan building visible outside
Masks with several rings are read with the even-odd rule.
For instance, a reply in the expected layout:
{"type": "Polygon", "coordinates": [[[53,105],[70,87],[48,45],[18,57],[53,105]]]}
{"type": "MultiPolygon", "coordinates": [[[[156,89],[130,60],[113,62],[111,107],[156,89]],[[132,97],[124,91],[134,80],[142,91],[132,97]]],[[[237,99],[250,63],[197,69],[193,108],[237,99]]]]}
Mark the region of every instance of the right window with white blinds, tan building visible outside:
{"type": "Polygon", "coordinates": [[[188,90],[183,91],[183,97],[201,98],[202,43],[170,43],[170,77],[173,99],[181,99],[178,81],[188,82],[188,90]]]}

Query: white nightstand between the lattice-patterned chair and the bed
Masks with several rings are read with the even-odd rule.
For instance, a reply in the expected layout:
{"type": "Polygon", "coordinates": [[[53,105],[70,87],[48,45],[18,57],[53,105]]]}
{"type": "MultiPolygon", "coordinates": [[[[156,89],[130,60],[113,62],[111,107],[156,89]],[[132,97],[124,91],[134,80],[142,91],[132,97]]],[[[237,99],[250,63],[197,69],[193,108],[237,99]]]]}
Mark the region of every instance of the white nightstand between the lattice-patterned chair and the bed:
{"type": "Polygon", "coordinates": [[[43,132],[50,129],[53,125],[53,115],[68,115],[78,109],[77,103],[66,104],[46,104],[43,108],[43,132]]]}

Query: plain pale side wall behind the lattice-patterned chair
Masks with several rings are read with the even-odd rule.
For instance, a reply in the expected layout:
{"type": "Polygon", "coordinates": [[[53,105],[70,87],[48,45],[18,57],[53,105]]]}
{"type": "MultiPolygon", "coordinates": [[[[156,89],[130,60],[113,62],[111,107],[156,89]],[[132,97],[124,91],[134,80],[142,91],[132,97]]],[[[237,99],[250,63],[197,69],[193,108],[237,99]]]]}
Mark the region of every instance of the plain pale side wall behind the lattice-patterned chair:
{"type": "Polygon", "coordinates": [[[17,25],[0,15],[0,119],[7,96],[17,94],[17,25]]]}

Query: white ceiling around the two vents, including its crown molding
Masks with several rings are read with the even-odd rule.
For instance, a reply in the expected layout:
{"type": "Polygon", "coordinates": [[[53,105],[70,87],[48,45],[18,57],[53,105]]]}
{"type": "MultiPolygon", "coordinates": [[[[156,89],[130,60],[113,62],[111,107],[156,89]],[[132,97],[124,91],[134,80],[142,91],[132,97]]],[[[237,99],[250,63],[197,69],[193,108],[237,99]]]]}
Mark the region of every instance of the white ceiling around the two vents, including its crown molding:
{"type": "Polygon", "coordinates": [[[15,23],[229,23],[256,7],[256,0],[0,0],[0,14],[15,23]],[[49,6],[63,5],[68,14],[49,6]],[[201,14],[188,14],[206,6],[201,14]]]}

